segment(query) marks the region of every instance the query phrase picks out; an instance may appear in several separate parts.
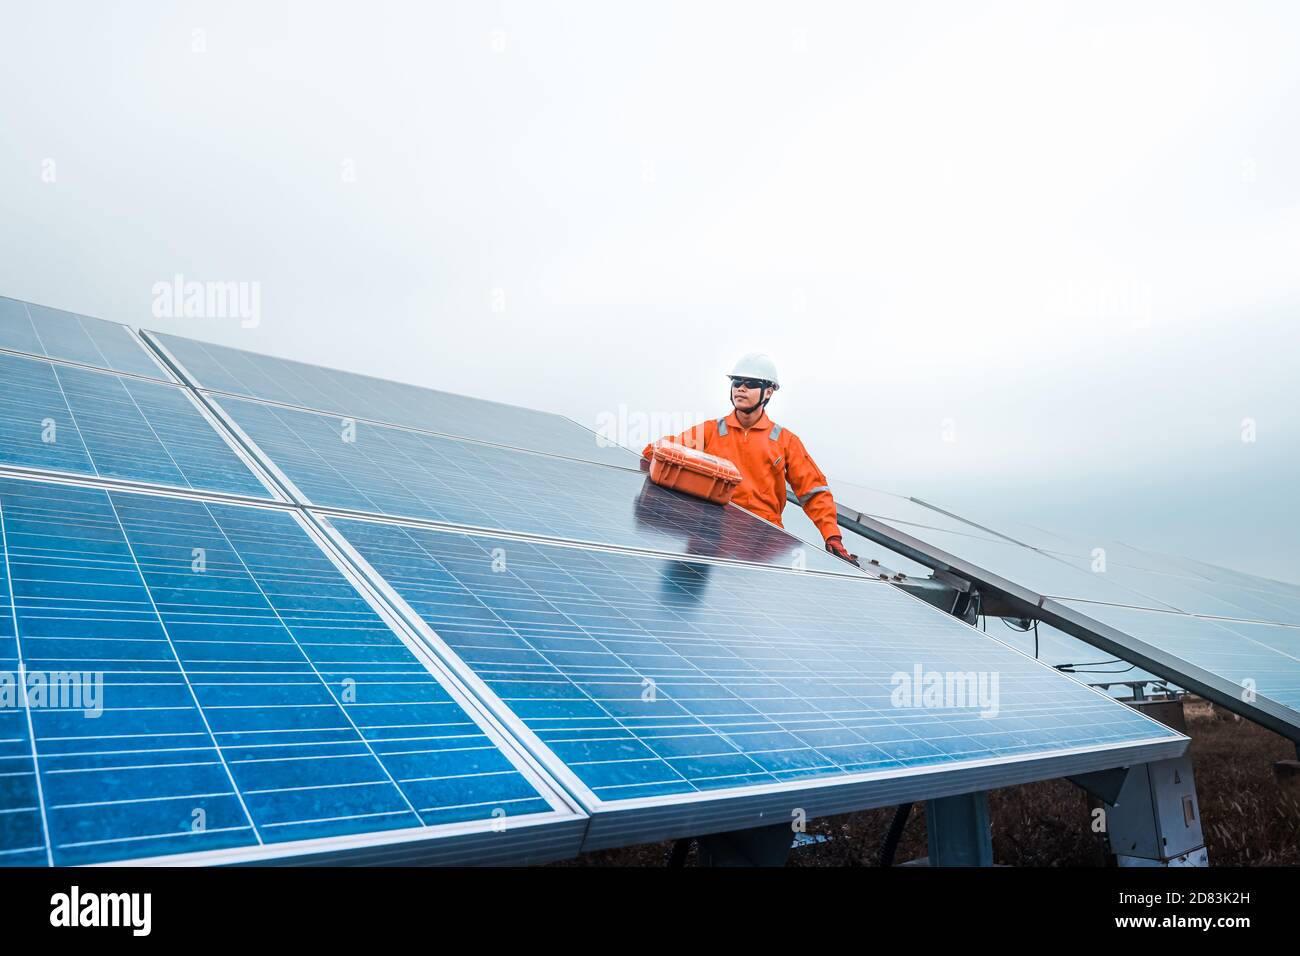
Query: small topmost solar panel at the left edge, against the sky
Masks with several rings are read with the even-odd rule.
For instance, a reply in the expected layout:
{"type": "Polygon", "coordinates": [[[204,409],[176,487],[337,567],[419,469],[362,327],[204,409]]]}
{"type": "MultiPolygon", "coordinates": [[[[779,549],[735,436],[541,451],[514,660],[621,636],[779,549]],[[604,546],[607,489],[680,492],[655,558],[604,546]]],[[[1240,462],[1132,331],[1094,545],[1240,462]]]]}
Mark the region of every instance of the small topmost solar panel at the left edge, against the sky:
{"type": "Polygon", "coordinates": [[[172,381],[125,325],[4,297],[0,349],[172,381]]]}

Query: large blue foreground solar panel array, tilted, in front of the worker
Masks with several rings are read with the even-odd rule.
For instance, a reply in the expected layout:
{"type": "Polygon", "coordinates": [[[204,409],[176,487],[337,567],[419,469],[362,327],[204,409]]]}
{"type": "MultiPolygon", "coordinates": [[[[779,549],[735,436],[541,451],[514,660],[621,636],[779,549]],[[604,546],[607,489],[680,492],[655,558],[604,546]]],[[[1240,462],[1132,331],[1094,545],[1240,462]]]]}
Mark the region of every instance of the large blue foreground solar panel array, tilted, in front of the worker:
{"type": "Polygon", "coordinates": [[[103,708],[0,708],[3,862],[526,862],[1186,748],[560,416],[18,304],[0,674],[103,708]]]}

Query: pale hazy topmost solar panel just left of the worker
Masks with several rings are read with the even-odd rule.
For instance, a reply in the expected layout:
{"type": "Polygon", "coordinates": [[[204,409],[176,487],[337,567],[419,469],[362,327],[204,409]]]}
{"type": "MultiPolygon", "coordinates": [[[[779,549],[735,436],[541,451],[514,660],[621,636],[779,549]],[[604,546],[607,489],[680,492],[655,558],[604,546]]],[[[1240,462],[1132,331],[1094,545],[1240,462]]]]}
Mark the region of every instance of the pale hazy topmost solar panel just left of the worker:
{"type": "Polygon", "coordinates": [[[560,415],[417,385],[148,333],[202,389],[421,428],[428,432],[636,467],[633,453],[560,415]]]}

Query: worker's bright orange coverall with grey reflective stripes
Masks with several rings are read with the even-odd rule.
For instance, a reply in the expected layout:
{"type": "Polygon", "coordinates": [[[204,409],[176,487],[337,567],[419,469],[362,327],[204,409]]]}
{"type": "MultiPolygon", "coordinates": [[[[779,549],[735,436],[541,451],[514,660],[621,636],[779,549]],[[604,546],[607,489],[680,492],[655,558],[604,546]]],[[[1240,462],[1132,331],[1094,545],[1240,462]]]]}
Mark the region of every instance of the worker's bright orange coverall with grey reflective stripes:
{"type": "MultiPolygon", "coordinates": [[[[785,483],[789,481],[822,537],[840,533],[826,475],[800,437],[767,418],[766,411],[753,428],[742,428],[733,410],[724,419],[702,421],[670,437],[670,441],[725,458],[740,468],[744,480],[732,494],[732,501],[755,515],[784,527],[781,511],[785,510],[785,483]]],[[[651,458],[654,442],[646,445],[641,454],[651,458]]]]}

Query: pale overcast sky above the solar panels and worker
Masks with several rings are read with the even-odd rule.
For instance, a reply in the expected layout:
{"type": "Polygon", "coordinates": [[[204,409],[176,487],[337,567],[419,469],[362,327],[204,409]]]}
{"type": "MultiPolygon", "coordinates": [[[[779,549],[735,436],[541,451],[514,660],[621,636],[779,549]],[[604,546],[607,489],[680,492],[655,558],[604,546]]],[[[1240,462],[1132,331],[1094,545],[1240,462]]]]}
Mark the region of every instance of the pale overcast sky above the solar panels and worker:
{"type": "Polygon", "coordinates": [[[1300,5],[120,7],[5,5],[0,294],[634,440],[763,350],[832,479],[1300,580],[1300,5]]]}

